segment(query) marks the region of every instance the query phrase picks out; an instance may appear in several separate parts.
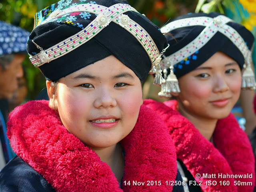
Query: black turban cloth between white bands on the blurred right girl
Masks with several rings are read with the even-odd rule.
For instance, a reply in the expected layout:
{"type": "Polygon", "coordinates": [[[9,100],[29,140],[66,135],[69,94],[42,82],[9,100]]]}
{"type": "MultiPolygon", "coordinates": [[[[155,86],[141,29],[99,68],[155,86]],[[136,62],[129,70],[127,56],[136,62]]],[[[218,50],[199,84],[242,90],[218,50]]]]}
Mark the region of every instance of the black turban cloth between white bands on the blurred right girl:
{"type": "MultiPolygon", "coordinates": [[[[220,16],[220,15],[221,15],[220,13],[216,13],[216,12],[211,12],[209,14],[191,13],[191,14],[179,16],[170,22],[174,22],[174,21],[178,21],[186,18],[196,18],[196,17],[216,18],[217,16],[220,16]]],[[[248,49],[252,48],[252,44],[254,42],[254,36],[249,30],[247,30],[241,24],[233,22],[232,20],[228,22],[227,25],[232,27],[234,30],[236,30],[240,34],[240,36],[243,38],[244,42],[246,43],[246,46],[248,47],[248,49]]],[[[164,55],[168,57],[169,55],[172,55],[176,51],[179,51],[180,49],[186,47],[190,42],[192,42],[198,37],[198,35],[204,30],[204,28],[206,27],[201,26],[199,24],[195,26],[190,26],[189,24],[187,24],[182,28],[177,28],[177,29],[174,28],[173,30],[168,31],[170,34],[174,36],[175,39],[172,38],[171,36],[166,35],[168,44],[170,44],[170,48],[166,50],[164,55]]],[[[210,38],[208,42],[205,43],[204,41],[202,41],[202,43],[204,44],[202,48],[198,49],[196,52],[194,52],[190,56],[185,57],[182,61],[178,63],[176,62],[173,63],[174,74],[176,75],[177,78],[185,75],[186,73],[189,73],[190,71],[196,69],[196,67],[202,65],[202,63],[208,60],[217,51],[222,51],[223,53],[226,53],[226,55],[228,55],[238,63],[240,69],[243,68],[243,65],[245,63],[244,55],[241,53],[239,48],[227,36],[225,36],[221,32],[216,32],[216,34],[214,34],[214,36],[212,36],[212,38],[210,38]]]]}

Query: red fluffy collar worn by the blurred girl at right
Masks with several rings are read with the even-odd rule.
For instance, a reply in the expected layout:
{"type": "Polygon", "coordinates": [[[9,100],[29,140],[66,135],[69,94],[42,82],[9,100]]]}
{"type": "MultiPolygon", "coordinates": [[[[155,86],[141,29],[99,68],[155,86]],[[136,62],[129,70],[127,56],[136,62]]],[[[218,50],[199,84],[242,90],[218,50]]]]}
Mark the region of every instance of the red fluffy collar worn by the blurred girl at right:
{"type": "MultiPolygon", "coordinates": [[[[235,117],[218,121],[212,143],[206,140],[200,132],[180,115],[175,102],[158,103],[146,100],[144,104],[153,109],[166,123],[176,147],[177,158],[190,171],[197,182],[202,181],[204,192],[252,192],[255,185],[254,155],[247,135],[240,129],[235,117]],[[200,178],[196,178],[196,174],[200,178]],[[216,174],[216,178],[203,178],[203,174],[216,174]],[[251,174],[252,178],[220,178],[218,174],[251,174]],[[206,181],[216,181],[216,186],[206,185],[206,181]],[[229,181],[229,186],[223,181],[229,181]],[[235,182],[236,181],[236,182],[235,182]],[[244,185],[243,182],[246,182],[244,185]],[[250,185],[247,182],[252,182],[250,185]],[[235,186],[235,184],[238,184],[235,186]]],[[[199,182],[201,183],[201,182],[199,182]]]]}

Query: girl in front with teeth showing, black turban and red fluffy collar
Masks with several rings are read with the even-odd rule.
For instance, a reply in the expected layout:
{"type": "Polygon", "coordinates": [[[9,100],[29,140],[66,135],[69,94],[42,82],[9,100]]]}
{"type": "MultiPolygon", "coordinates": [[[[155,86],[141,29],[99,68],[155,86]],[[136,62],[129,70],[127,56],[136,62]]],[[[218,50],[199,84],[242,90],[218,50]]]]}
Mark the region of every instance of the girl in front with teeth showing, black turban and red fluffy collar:
{"type": "Polygon", "coordinates": [[[159,28],[121,0],[61,0],[35,18],[27,51],[49,101],[10,114],[18,156],[0,172],[0,190],[172,191],[174,144],[142,105],[141,83],[168,47],[159,28]]]}

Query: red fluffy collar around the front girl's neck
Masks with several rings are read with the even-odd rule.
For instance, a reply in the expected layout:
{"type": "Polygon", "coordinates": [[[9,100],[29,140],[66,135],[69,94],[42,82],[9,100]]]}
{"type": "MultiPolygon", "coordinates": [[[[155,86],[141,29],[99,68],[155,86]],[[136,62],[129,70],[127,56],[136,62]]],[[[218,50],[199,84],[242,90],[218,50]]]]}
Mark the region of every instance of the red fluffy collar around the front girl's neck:
{"type": "Polygon", "coordinates": [[[172,186],[165,182],[176,178],[175,147],[159,118],[142,105],[134,129],[121,141],[123,190],[110,167],[66,131],[48,101],[30,101],[14,109],[7,135],[14,152],[58,192],[170,192],[172,186]]]}

